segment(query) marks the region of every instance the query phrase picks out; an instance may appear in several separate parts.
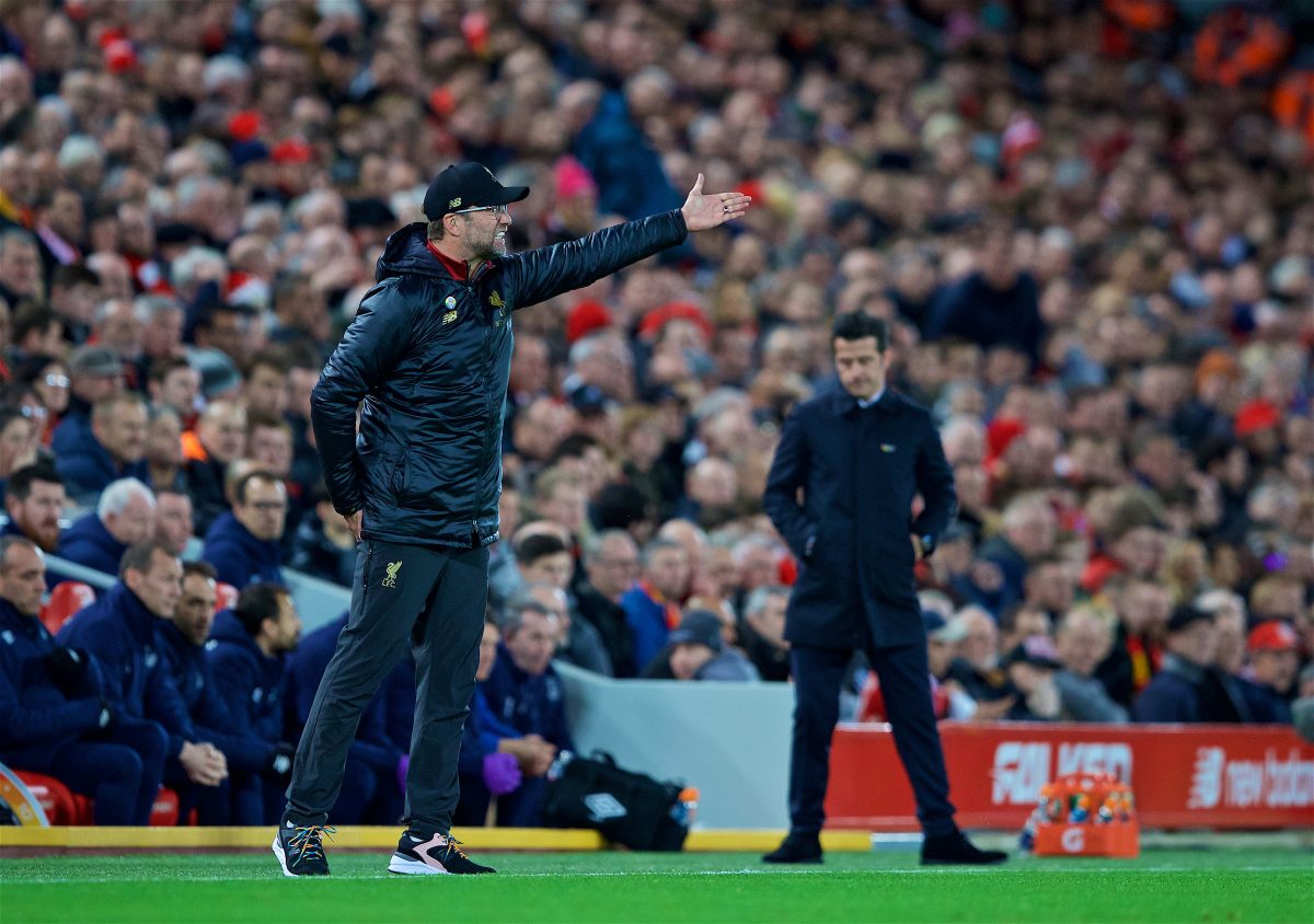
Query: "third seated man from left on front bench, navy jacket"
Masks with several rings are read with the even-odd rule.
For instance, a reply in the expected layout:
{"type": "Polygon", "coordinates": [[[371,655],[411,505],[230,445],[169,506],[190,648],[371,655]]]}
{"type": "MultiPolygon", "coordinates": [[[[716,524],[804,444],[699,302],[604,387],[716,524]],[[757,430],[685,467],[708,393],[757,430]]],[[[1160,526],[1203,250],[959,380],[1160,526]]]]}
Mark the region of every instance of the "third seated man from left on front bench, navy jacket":
{"type": "Polygon", "coordinates": [[[271,745],[229,712],[205,657],[214,599],[214,568],[205,561],[185,563],[177,609],[171,620],[156,626],[155,634],[196,733],[222,751],[229,762],[229,790],[200,793],[201,824],[261,824],[263,781],[286,783],[293,749],[286,741],[271,745]]]}

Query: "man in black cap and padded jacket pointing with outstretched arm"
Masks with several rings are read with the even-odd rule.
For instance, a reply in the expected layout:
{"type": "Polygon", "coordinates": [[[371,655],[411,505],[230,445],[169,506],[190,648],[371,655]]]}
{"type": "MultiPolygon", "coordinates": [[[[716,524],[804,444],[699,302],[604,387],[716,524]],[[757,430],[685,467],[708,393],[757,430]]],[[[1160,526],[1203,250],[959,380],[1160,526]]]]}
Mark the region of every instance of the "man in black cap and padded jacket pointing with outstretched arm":
{"type": "Polygon", "coordinates": [[[334,509],[360,540],[351,615],[297,749],[273,852],[288,875],[326,875],[322,836],[361,708],[415,655],[415,731],[398,873],[489,873],[451,836],[498,540],[512,312],[577,289],[738,218],[749,198],[703,195],[677,212],[509,255],[507,206],[530,195],[481,164],[439,173],[428,223],[393,234],[378,284],[325,367],[311,419],[334,509]],[[357,436],[356,411],[360,407],[357,436]]]}

